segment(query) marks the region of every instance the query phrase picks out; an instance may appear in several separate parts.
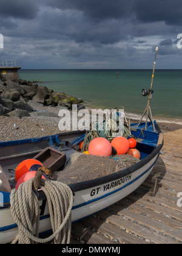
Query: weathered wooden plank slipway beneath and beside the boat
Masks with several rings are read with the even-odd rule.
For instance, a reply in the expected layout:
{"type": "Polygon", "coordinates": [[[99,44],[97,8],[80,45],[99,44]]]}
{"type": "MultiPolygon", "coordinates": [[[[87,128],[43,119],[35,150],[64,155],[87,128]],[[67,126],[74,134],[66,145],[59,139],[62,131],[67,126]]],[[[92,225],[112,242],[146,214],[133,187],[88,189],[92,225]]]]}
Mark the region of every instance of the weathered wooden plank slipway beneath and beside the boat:
{"type": "Polygon", "coordinates": [[[71,243],[182,244],[182,129],[164,133],[164,147],[152,174],[120,202],[72,225],[71,243]],[[161,172],[157,193],[150,196],[161,172]]]}

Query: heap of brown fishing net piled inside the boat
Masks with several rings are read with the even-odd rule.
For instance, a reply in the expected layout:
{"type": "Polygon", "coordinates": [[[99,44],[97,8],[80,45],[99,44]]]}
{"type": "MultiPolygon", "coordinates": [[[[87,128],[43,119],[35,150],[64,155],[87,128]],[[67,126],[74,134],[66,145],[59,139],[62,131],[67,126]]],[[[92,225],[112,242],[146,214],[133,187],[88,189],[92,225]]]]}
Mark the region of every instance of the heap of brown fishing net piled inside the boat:
{"type": "Polygon", "coordinates": [[[126,169],[140,162],[130,155],[115,157],[98,157],[96,155],[73,154],[63,171],[53,173],[53,179],[67,185],[97,179],[126,169]]]}

